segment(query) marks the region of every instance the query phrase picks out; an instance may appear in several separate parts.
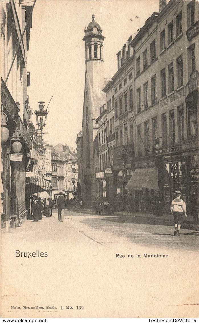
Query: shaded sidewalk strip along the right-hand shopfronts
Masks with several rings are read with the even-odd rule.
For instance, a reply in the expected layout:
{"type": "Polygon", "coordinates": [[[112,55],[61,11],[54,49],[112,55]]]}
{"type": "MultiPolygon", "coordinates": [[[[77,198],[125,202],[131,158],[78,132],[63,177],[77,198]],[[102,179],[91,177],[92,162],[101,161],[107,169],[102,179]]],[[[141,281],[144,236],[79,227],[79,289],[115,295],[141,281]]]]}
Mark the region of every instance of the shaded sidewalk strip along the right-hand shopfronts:
{"type": "MultiPolygon", "coordinates": [[[[75,207],[68,207],[70,211],[76,212],[76,213],[86,213],[86,214],[92,214],[96,215],[95,211],[92,211],[91,209],[77,209],[75,207]]],[[[100,214],[100,216],[109,216],[108,214],[100,214]]],[[[111,216],[114,215],[120,215],[120,216],[126,216],[126,217],[142,217],[145,219],[155,219],[157,220],[158,224],[160,225],[169,225],[173,226],[173,216],[172,214],[163,214],[163,216],[155,216],[152,213],[128,213],[128,212],[114,212],[111,216]]],[[[153,221],[154,222],[154,221],[153,221]]],[[[189,230],[195,230],[199,231],[199,225],[194,224],[193,216],[187,215],[187,218],[184,218],[184,222],[182,224],[182,227],[184,229],[189,229],[189,230]]]]}

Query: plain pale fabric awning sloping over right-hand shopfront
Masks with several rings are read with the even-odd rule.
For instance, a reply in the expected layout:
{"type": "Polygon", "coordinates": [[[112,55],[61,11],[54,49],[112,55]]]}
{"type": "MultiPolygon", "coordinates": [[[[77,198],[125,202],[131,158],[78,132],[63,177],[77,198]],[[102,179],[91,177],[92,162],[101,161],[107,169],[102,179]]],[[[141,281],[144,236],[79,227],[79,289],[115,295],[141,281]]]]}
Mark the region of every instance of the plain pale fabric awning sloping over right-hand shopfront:
{"type": "Polygon", "coordinates": [[[138,190],[143,188],[153,189],[158,192],[157,168],[136,168],[131,179],[127,183],[126,190],[138,190]]]}

